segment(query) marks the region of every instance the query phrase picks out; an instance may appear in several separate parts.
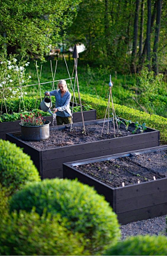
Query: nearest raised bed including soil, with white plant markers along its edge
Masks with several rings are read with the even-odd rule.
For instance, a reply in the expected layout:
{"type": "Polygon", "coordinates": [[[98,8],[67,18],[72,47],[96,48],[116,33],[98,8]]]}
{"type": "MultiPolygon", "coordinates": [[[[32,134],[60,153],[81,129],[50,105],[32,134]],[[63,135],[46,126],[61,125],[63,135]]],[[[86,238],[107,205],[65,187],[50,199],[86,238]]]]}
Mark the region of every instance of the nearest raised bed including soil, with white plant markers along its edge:
{"type": "Polygon", "coordinates": [[[122,225],[167,213],[167,145],[64,163],[63,178],[93,186],[122,225]]]}

